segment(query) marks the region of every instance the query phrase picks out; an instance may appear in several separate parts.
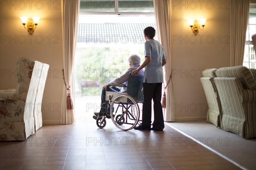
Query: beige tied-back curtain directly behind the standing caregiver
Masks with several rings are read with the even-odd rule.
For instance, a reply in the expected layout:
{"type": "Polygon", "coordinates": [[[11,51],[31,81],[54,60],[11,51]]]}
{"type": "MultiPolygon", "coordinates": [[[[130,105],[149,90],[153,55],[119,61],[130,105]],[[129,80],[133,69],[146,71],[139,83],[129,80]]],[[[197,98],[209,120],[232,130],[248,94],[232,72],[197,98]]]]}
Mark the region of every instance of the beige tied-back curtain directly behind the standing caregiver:
{"type": "MultiPolygon", "coordinates": [[[[159,42],[163,45],[166,55],[166,65],[164,66],[164,85],[169,81],[172,74],[172,1],[171,0],[154,0],[154,10],[157,25],[157,34],[159,42]]],[[[172,109],[173,91],[172,79],[166,88],[166,108],[163,109],[164,121],[175,121],[175,112],[172,109]]]]}

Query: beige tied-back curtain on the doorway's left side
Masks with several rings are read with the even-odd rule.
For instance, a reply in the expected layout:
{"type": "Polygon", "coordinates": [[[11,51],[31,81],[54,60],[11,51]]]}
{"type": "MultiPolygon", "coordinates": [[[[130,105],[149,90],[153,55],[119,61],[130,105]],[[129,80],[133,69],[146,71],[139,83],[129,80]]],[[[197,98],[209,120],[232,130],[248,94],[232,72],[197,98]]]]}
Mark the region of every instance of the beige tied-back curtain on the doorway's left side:
{"type": "MultiPolygon", "coordinates": [[[[76,35],[78,28],[79,7],[80,0],[61,1],[64,65],[63,67],[64,76],[68,87],[72,85],[72,71],[76,50],[76,35]]],[[[70,92],[72,92],[72,87],[70,88],[70,92]]],[[[61,124],[73,124],[75,122],[73,109],[67,109],[67,96],[68,90],[64,85],[61,103],[61,124]]]]}

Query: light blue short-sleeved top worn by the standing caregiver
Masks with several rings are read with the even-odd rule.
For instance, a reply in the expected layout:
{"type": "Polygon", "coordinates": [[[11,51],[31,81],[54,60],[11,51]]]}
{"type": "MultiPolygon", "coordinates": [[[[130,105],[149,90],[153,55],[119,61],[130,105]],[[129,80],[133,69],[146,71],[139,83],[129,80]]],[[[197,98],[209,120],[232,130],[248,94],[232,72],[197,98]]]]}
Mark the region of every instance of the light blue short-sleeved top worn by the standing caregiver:
{"type": "Polygon", "coordinates": [[[145,66],[143,83],[163,83],[162,61],[166,58],[163,46],[157,40],[145,42],[145,57],[151,57],[151,62],[145,66]]]}

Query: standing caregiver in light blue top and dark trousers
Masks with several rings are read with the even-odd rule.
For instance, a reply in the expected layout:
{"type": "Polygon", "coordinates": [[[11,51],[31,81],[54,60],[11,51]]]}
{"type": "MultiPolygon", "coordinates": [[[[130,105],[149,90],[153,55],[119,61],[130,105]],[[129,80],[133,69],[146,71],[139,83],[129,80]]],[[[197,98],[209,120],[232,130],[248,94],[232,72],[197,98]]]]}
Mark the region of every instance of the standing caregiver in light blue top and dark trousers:
{"type": "Polygon", "coordinates": [[[144,29],[145,36],[145,61],[141,66],[132,72],[136,75],[145,67],[143,78],[143,112],[142,124],[134,127],[135,130],[158,130],[164,128],[163,109],[161,104],[163,66],[166,64],[166,58],[163,52],[163,46],[154,40],[156,30],[149,26],[144,29]],[[151,101],[154,101],[154,123],[151,128],[151,101]]]}

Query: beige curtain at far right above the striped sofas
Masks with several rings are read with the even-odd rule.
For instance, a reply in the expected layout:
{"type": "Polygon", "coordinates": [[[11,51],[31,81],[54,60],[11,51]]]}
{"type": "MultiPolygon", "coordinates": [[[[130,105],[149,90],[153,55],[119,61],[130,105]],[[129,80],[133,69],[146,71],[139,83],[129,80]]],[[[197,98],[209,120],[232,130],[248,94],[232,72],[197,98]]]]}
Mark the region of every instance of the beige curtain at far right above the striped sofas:
{"type": "Polygon", "coordinates": [[[231,66],[241,66],[249,17],[250,0],[231,0],[231,66]]]}

